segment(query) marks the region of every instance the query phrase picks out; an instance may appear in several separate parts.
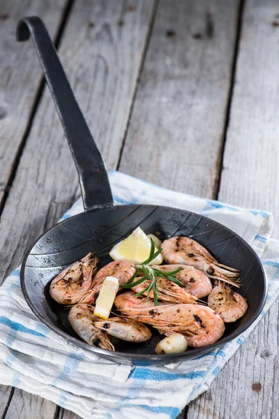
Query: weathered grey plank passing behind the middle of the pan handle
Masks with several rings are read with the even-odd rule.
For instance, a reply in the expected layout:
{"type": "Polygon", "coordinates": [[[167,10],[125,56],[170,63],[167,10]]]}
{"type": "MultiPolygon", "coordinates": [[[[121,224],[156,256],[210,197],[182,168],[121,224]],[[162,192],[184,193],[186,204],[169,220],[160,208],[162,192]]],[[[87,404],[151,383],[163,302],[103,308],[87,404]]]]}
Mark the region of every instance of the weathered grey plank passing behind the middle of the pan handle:
{"type": "MultiPolygon", "coordinates": [[[[130,1],[128,8],[124,0],[77,1],[61,41],[61,60],[110,167],[119,159],[152,4],[130,1]]],[[[33,52],[29,65],[37,61],[33,52]]],[[[0,278],[79,195],[73,159],[46,89],[3,209],[0,278]]]]}

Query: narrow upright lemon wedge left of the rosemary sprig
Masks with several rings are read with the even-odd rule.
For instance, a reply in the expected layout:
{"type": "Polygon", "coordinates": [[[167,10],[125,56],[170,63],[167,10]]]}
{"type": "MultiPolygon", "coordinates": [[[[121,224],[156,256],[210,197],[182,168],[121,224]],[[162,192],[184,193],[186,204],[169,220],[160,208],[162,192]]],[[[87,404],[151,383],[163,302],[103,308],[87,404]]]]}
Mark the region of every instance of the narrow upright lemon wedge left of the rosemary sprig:
{"type": "Polygon", "coordinates": [[[112,304],[114,303],[118,288],[119,280],[117,278],[105,278],[96,300],[94,316],[104,318],[105,320],[110,316],[110,310],[112,309],[112,304]]]}

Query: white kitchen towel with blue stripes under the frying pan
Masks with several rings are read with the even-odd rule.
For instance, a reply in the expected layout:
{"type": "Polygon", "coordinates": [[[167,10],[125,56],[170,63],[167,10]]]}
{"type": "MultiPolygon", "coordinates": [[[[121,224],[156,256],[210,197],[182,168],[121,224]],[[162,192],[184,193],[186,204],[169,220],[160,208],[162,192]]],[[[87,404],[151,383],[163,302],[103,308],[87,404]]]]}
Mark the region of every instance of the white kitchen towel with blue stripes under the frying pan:
{"type": "MultiPolygon", "coordinates": [[[[279,241],[271,240],[273,217],[110,172],[114,202],[158,204],[197,212],[223,223],[257,251],[269,279],[261,316],[234,341],[194,360],[165,367],[129,367],[105,361],[56,335],[25,302],[20,270],[0,287],[0,383],[52,400],[82,418],[167,419],[204,392],[279,294],[279,241]]],[[[82,200],[63,219],[82,212],[82,200]]]]}

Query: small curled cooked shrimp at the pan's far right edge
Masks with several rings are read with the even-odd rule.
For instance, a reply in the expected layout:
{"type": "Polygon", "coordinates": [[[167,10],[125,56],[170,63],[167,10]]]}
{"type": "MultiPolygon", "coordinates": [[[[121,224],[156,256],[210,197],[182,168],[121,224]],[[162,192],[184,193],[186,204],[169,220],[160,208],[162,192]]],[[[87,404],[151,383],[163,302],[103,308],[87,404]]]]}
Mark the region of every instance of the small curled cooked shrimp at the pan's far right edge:
{"type": "Polygon", "coordinates": [[[244,316],[248,309],[246,300],[239,293],[234,293],[229,286],[217,281],[207,299],[209,307],[216,311],[225,323],[232,323],[244,316]]]}

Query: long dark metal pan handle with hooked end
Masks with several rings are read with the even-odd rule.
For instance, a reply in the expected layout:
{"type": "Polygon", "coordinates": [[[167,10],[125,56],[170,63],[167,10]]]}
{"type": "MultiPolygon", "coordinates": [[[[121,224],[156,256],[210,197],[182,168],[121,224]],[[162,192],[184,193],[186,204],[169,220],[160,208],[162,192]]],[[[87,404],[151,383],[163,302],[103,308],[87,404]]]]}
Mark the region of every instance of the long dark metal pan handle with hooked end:
{"type": "Polygon", "coordinates": [[[75,161],[82,189],[84,211],[112,207],[112,191],[105,163],[40,17],[24,17],[18,22],[17,41],[27,41],[30,35],[75,161]]]}

